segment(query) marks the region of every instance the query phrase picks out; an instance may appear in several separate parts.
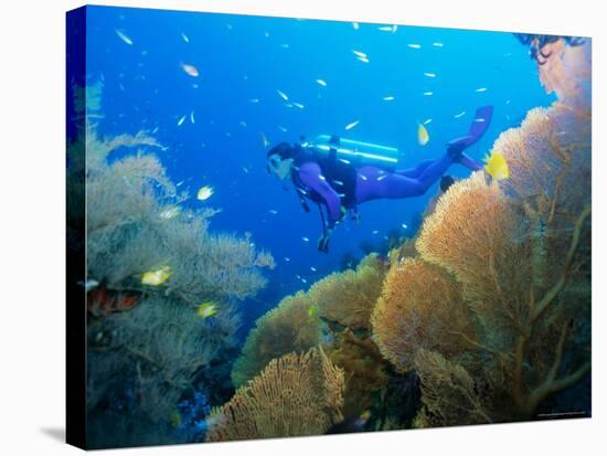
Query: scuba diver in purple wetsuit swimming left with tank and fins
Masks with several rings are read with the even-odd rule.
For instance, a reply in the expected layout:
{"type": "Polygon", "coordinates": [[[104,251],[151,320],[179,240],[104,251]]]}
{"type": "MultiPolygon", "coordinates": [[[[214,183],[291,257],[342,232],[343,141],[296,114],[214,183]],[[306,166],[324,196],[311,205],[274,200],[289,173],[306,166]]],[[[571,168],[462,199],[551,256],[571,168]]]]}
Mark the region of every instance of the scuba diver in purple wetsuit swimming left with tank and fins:
{"type": "MultiPolygon", "coordinates": [[[[423,161],[412,169],[394,169],[398,157],[395,148],[328,135],[311,142],[302,138],[300,144],[278,144],[268,150],[266,168],[280,180],[292,181],[306,212],[310,211],[308,200],[318,205],[322,222],[318,250],[327,253],[331,234],[345,214],[350,212],[352,220],[360,219],[359,204],[420,197],[454,163],[473,171],[481,169],[482,166],[464,151],[482,137],[492,113],[492,106],[479,108],[468,135],[449,141],[443,157],[423,161]]],[[[444,179],[441,187],[445,181],[449,179],[444,179]]]]}

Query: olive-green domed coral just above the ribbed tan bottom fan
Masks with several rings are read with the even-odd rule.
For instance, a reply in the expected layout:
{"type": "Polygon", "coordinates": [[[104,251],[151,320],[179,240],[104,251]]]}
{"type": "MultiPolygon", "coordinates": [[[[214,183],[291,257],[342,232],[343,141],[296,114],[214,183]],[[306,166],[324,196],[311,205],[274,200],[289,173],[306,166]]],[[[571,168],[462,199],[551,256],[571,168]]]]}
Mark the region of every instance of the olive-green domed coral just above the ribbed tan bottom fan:
{"type": "Polygon", "coordinates": [[[270,360],[291,351],[306,351],[319,343],[318,319],[310,316],[312,305],[309,296],[300,291],[284,298],[256,321],[232,369],[235,386],[253,379],[270,360]]]}

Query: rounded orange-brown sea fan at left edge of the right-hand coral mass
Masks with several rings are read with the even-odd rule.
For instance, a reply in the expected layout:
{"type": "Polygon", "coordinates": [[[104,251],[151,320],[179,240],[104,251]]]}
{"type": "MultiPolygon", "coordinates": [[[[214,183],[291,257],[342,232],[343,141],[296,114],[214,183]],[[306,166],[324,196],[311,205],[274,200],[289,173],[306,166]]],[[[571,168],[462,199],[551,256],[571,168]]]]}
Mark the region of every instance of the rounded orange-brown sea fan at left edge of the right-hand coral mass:
{"type": "Polygon", "coordinates": [[[452,277],[417,258],[392,267],[371,318],[375,343],[402,371],[415,368],[420,349],[455,354],[470,348],[470,320],[452,277]]]}

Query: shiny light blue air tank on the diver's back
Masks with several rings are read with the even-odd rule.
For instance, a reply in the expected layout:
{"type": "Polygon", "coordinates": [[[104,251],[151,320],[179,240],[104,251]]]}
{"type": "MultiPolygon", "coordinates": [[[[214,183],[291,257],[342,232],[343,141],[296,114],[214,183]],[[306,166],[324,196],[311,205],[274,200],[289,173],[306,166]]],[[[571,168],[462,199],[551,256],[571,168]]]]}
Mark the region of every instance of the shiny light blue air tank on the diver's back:
{"type": "Polygon", "coordinates": [[[374,166],[392,170],[398,163],[398,149],[380,146],[339,136],[319,135],[311,141],[302,141],[303,150],[330,157],[334,153],[338,160],[352,165],[354,168],[374,166]]]}

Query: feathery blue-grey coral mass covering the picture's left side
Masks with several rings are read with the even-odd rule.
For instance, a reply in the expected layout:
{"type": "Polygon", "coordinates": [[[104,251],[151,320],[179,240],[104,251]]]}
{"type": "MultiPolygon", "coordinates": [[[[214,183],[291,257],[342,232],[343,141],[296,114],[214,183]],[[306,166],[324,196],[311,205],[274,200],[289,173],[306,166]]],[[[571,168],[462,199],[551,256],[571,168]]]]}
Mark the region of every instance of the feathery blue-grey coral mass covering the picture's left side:
{"type": "MultiPolygon", "coordinates": [[[[189,195],[167,177],[153,153],[164,148],[155,138],[102,137],[89,114],[68,145],[67,170],[81,183],[86,178],[86,195],[77,194],[77,184],[67,191],[77,204],[86,197],[87,206],[87,277],[78,277],[90,284],[87,442],[184,442],[192,433],[174,425],[178,404],[201,388],[223,391],[222,365],[231,363],[241,324],[237,304],[265,286],[260,269],[274,267],[274,259],[254,248],[249,236],[211,232],[216,210],[181,205],[189,195]],[[159,268],[168,272],[163,280],[142,279],[159,268]],[[196,314],[205,301],[217,309],[211,318],[196,314]],[[107,435],[105,428],[116,432],[107,435]]],[[[82,224],[68,220],[68,231],[82,224]]]]}

